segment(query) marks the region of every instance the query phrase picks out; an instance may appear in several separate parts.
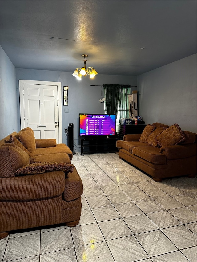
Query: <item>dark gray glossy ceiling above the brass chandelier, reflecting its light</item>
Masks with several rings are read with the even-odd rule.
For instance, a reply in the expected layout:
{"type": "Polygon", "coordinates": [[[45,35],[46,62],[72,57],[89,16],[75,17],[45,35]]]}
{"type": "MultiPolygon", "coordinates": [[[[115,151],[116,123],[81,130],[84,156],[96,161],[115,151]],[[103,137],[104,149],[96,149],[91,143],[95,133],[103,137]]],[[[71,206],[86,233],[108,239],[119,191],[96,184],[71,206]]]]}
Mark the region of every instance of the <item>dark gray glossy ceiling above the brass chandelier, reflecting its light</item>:
{"type": "Polygon", "coordinates": [[[196,1],[0,1],[16,68],[137,76],[196,53],[196,1]]]}

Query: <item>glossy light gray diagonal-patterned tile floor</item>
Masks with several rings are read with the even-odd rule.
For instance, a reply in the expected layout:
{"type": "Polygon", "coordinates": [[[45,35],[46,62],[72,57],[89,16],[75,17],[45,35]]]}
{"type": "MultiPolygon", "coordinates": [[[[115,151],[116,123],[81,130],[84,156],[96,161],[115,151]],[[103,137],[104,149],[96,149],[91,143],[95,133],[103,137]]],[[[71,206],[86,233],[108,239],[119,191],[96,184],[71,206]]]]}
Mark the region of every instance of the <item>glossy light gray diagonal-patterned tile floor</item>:
{"type": "Polygon", "coordinates": [[[196,178],[152,178],[115,153],[76,154],[78,226],[12,232],[0,262],[196,262],[196,178]]]}

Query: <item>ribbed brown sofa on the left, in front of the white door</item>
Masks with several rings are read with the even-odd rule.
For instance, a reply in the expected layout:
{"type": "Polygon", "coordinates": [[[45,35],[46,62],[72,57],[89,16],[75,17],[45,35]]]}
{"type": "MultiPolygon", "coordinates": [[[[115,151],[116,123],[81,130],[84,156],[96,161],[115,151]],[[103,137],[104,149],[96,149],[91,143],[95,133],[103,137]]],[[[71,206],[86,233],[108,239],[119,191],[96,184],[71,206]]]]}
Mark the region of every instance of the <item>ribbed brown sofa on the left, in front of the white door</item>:
{"type": "Polygon", "coordinates": [[[83,186],[71,159],[65,144],[35,139],[29,127],[0,141],[0,239],[16,229],[78,224],[83,186]]]}

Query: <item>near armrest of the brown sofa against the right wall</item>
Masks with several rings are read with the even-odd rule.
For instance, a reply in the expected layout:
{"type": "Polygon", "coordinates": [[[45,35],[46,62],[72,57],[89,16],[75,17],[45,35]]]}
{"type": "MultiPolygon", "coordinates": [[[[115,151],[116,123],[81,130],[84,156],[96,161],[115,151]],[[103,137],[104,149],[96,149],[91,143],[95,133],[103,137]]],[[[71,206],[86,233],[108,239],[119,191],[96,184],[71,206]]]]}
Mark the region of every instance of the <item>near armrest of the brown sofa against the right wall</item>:
{"type": "Polygon", "coordinates": [[[196,143],[160,148],[160,153],[166,155],[167,160],[182,159],[196,155],[196,143]]]}

